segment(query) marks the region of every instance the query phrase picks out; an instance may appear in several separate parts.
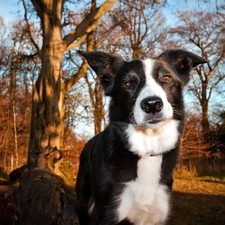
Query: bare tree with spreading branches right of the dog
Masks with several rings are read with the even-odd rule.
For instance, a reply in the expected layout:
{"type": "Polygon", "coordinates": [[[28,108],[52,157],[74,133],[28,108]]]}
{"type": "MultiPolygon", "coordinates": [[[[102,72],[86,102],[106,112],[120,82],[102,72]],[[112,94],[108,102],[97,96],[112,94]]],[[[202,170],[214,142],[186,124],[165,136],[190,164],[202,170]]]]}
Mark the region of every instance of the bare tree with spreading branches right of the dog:
{"type": "MultiPolygon", "coordinates": [[[[195,96],[202,115],[204,137],[210,135],[209,104],[216,94],[216,89],[223,89],[225,75],[222,72],[225,63],[225,16],[209,12],[179,12],[180,25],[172,29],[185,42],[188,49],[193,49],[208,60],[206,65],[198,67],[193,73],[189,91],[195,96]]],[[[176,39],[175,36],[173,38],[176,39]]]]}

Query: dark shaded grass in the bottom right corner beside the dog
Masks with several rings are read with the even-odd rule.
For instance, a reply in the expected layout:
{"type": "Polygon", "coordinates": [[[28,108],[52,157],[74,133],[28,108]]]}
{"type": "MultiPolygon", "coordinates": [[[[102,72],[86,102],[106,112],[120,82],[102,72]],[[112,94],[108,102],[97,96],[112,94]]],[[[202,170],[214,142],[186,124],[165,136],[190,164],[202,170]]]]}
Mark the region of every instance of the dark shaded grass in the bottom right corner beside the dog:
{"type": "Polygon", "coordinates": [[[225,196],[174,192],[172,202],[167,225],[225,225],[225,196]]]}

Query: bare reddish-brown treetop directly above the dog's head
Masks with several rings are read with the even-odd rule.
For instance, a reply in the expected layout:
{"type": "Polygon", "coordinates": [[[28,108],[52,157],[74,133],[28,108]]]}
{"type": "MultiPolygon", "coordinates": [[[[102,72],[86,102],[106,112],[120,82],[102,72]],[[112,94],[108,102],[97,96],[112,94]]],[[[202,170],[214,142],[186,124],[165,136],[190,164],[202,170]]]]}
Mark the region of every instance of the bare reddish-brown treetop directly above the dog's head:
{"type": "Polygon", "coordinates": [[[119,5],[111,15],[115,28],[110,48],[127,60],[144,59],[160,52],[160,42],[166,34],[165,17],[160,10],[161,4],[149,3],[129,0],[119,5]]]}

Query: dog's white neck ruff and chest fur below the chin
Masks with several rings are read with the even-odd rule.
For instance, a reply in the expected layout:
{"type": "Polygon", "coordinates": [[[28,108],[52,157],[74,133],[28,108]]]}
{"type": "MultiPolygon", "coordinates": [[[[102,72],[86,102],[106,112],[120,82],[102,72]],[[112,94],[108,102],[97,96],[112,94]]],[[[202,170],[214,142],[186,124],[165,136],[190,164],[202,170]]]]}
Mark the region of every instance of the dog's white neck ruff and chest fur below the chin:
{"type": "Polygon", "coordinates": [[[160,183],[162,153],[175,147],[178,122],[171,121],[157,132],[127,129],[130,151],[140,156],[137,178],[125,184],[119,196],[118,219],[136,225],[163,224],[169,213],[169,192],[160,183]],[[156,155],[156,156],[153,156],[156,155]]]}

